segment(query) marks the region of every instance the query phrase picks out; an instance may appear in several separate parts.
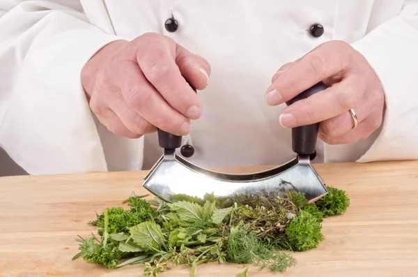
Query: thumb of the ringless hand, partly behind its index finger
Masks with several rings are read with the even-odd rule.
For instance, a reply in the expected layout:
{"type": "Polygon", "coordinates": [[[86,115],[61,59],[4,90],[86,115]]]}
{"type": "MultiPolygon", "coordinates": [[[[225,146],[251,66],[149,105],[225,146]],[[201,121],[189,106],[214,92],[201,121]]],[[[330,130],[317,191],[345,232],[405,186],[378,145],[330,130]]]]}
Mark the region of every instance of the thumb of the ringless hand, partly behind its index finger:
{"type": "Polygon", "coordinates": [[[206,59],[177,45],[176,64],[181,74],[196,89],[205,89],[209,82],[210,65],[206,59]]]}

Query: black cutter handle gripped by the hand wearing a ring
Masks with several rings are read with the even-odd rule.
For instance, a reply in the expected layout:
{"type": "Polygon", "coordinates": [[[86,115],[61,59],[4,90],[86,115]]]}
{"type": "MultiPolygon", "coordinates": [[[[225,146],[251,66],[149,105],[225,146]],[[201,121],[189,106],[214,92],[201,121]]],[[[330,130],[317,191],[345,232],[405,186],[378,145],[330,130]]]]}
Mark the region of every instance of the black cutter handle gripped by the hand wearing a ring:
{"type": "MultiPolygon", "coordinates": [[[[295,98],[288,100],[286,102],[286,105],[292,105],[296,101],[308,98],[314,93],[323,91],[324,89],[327,89],[327,86],[323,82],[319,82],[318,84],[315,84],[313,87],[295,96],[295,98]]],[[[292,128],[293,151],[297,154],[315,154],[316,139],[318,137],[318,128],[319,123],[292,128]]]]}

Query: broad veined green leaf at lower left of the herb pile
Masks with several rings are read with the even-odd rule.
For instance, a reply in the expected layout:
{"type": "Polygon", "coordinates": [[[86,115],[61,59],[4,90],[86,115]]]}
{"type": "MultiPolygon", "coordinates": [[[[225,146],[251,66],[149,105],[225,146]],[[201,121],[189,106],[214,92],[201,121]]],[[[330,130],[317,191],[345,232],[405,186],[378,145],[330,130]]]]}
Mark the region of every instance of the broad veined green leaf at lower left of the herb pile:
{"type": "Polygon", "coordinates": [[[144,250],[160,252],[166,248],[164,234],[160,225],[153,221],[146,221],[130,228],[130,235],[135,244],[144,250]]]}

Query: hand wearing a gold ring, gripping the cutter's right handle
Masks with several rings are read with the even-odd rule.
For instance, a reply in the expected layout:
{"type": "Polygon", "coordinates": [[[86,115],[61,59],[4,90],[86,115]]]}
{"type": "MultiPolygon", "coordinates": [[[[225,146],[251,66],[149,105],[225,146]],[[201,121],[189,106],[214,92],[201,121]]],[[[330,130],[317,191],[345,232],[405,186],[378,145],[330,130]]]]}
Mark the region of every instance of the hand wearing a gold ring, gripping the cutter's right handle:
{"type": "Polygon", "coordinates": [[[279,105],[321,81],[328,88],[286,107],[279,117],[281,126],[320,122],[318,137],[327,144],[364,140],[379,128],[385,111],[382,84],[362,54],[339,40],[323,43],[279,68],[266,100],[279,105]],[[357,128],[350,109],[357,115],[357,128]]]}

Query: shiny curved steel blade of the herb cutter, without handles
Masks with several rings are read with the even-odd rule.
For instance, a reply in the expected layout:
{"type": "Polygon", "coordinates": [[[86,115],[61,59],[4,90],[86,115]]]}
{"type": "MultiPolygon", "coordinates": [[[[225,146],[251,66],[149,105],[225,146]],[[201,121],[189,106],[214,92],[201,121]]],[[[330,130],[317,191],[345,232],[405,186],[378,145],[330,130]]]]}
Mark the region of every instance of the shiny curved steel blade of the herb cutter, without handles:
{"type": "Polygon", "coordinates": [[[297,158],[270,170],[250,174],[225,174],[206,170],[189,163],[176,154],[164,155],[144,178],[143,186],[166,202],[176,195],[203,199],[215,197],[251,196],[297,190],[309,202],[327,194],[323,180],[311,166],[309,156],[297,158]]]}

